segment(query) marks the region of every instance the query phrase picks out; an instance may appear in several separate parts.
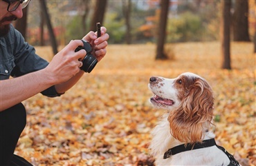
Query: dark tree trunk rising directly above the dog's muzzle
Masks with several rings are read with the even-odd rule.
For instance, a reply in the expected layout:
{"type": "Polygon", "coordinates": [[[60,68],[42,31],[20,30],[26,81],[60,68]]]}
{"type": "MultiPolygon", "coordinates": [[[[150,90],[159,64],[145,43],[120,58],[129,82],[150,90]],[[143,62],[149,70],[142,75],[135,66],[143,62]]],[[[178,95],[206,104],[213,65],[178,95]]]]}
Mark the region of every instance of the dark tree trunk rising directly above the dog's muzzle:
{"type": "Polygon", "coordinates": [[[157,48],[156,48],[156,59],[167,59],[167,55],[164,53],[165,37],[166,37],[166,25],[167,16],[169,9],[169,0],[161,1],[161,14],[160,22],[157,34],[157,48]]]}

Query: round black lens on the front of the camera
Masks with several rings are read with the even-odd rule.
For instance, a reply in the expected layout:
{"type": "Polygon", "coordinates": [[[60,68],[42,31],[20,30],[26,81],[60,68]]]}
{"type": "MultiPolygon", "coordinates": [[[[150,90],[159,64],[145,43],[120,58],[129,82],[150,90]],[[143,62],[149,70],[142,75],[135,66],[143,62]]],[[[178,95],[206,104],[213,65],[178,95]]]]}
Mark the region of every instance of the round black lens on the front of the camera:
{"type": "Polygon", "coordinates": [[[83,65],[80,69],[84,70],[84,72],[90,73],[98,63],[98,60],[95,58],[95,56],[93,56],[93,54],[87,54],[82,60],[82,63],[83,65]]]}

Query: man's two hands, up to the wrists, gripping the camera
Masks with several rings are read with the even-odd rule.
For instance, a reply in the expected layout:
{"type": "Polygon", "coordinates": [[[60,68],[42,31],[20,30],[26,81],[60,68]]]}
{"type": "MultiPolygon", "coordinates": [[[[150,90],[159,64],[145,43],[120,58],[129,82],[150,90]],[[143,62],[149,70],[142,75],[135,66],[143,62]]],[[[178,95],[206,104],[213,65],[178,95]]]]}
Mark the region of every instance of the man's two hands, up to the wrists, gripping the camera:
{"type": "MultiPolygon", "coordinates": [[[[93,52],[98,61],[100,61],[107,53],[106,47],[108,45],[107,40],[109,34],[106,33],[107,29],[101,28],[101,37],[97,39],[96,32],[89,32],[83,39],[89,42],[93,48],[93,52]]],[[[52,59],[51,63],[46,67],[47,73],[50,75],[50,79],[55,83],[63,83],[68,81],[78,72],[80,72],[80,59],[83,59],[86,55],[85,50],[75,52],[75,49],[83,45],[82,41],[74,40],[68,43],[66,47],[58,52],[52,59]]]]}

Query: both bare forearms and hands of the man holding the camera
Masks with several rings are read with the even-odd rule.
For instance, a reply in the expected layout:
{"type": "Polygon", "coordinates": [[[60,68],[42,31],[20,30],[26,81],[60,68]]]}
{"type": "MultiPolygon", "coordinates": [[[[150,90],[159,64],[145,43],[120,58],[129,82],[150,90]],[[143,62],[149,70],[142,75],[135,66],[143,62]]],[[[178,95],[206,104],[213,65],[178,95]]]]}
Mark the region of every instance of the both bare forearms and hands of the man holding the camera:
{"type": "MultiPolygon", "coordinates": [[[[97,39],[95,32],[89,32],[83,38],[91,43],[93,52],[98,61],[107,53],[106,47],[109,34],[107,29],[101,28],[101,37],[97,39]]],[[[58,52],[51,63],[42,70],[31,72],[15,79],[1,81],[0,86],[0,112],[8,107],[34,96],[55,85],[58,93],[62,94],[70,89],[82,77],[84,71],[80,70],[80,60],[86,55],[84,49],[75,52],[75,49],[83,45],[81,40],[74,40],[68,43],[65,48],[58,52]]]]}

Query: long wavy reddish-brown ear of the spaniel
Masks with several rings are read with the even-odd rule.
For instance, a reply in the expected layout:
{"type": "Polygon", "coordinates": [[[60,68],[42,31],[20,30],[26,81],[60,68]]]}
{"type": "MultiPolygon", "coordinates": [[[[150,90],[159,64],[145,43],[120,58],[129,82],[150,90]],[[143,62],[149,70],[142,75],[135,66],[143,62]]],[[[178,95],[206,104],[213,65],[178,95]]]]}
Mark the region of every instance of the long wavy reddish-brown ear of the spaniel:
{"type": "Polygon", "coordinates": [[[214,98],[212,90],[206,81],[196,79],[188,87],[181,105],[170,112],[171,134],[185,143],[201,142],[203,129],[210,127],[213,118],[214,98]],[[205,126],[208,125],[208,126],[205,126]]]}

